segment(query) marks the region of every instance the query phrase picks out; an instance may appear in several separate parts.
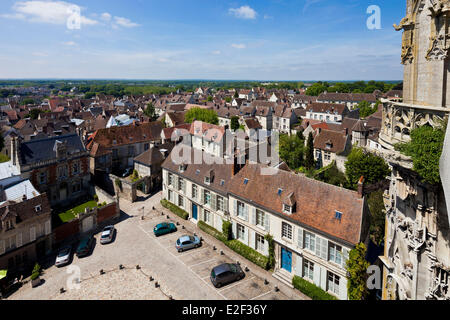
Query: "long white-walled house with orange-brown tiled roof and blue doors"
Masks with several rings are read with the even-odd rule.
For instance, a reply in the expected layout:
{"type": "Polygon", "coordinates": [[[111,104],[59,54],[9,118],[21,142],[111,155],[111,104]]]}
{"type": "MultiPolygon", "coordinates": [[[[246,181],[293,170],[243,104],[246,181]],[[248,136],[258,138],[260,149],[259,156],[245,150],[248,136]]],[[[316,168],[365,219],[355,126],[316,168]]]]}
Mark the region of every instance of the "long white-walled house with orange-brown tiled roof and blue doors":
{"type": "MultiPolygon", "coordinates": [[[[200,152],[188,148],[187,153],[200,152]]],[[[201,156],[201,155],[200,155],[201,156]]],[[[232,222],[232,236],[263,255],[265,236],[275,243],[274,276],[294,275],[347,299],[345,262],[356,244],[368,240],[368,206],[358,192],[287,171],[264,175],[259,164],[163,163],[163,197],[222,231],[232,222]]]]}

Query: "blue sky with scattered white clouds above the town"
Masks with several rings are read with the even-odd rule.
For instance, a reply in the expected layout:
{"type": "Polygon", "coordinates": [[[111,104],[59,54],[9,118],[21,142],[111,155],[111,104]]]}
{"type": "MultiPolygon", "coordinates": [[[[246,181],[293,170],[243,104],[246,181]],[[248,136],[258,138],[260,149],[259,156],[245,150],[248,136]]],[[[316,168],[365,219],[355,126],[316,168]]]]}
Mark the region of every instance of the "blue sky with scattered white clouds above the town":
{"type": "Polygon", "coordinates": [[[0,2],[0,78],[399,80],[406,0],[0,2]],[[69,29],[67,7],[81,8],[69,29]],[[367,8],[381,9],[369,30],[367,8]]]}

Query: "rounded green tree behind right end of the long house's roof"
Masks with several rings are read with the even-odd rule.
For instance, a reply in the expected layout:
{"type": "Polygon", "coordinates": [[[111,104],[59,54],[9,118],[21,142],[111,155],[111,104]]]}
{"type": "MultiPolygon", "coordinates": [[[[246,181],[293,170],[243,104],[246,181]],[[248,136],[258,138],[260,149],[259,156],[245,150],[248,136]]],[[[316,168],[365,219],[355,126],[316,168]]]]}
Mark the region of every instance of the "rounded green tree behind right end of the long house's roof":
{"type": "Polygon", "coordinates": [[[385,179],[391,170],[383,158],[378,157],[362,148],[353,147],[345,163],[347,179],[356,189],[361,176],[365,183],[373,184],[385,179]]]}

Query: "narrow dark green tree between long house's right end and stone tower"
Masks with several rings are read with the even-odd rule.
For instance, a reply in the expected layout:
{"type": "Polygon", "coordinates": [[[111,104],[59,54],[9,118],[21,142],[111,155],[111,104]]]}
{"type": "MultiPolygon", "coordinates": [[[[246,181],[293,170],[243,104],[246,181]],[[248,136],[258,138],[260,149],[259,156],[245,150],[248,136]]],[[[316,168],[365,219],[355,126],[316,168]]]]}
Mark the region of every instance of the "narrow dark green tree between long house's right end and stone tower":
{"type": "Polygon", "coordinates": [[[384,242],[384,231],[386,221],[383,191],[379,190],[372,192],[367,199],[367,203],[369,205],[369,210],[371,214],[370,237],[375,244],[380,246],[384,242]]]}

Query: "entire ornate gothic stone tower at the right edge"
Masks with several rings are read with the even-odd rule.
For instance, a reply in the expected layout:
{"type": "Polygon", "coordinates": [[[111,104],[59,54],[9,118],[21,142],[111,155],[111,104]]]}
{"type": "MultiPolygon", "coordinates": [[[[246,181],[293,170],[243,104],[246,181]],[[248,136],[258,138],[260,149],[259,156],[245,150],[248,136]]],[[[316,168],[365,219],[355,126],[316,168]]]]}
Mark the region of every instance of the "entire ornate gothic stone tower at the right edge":
{"type": "MultiPolygon", "coordinates": [[[[410,140],[413,129],[440,125],[450,112],[449,25],[450,0],[407,0],[406,17],[394,25],[403,30],[404,100],[382,101],[380,143],[392,167],[385,193],[385,252],[380,257],[383,299],[450,299],[444,188],[422,182],[412,170],[411,159],[394,151],[394,144],[410,140]]],[[[448,163],[442,161],[442,165],[448,163]]],[[[442,180],[444,185],[450,183],[442,180]]]]}

